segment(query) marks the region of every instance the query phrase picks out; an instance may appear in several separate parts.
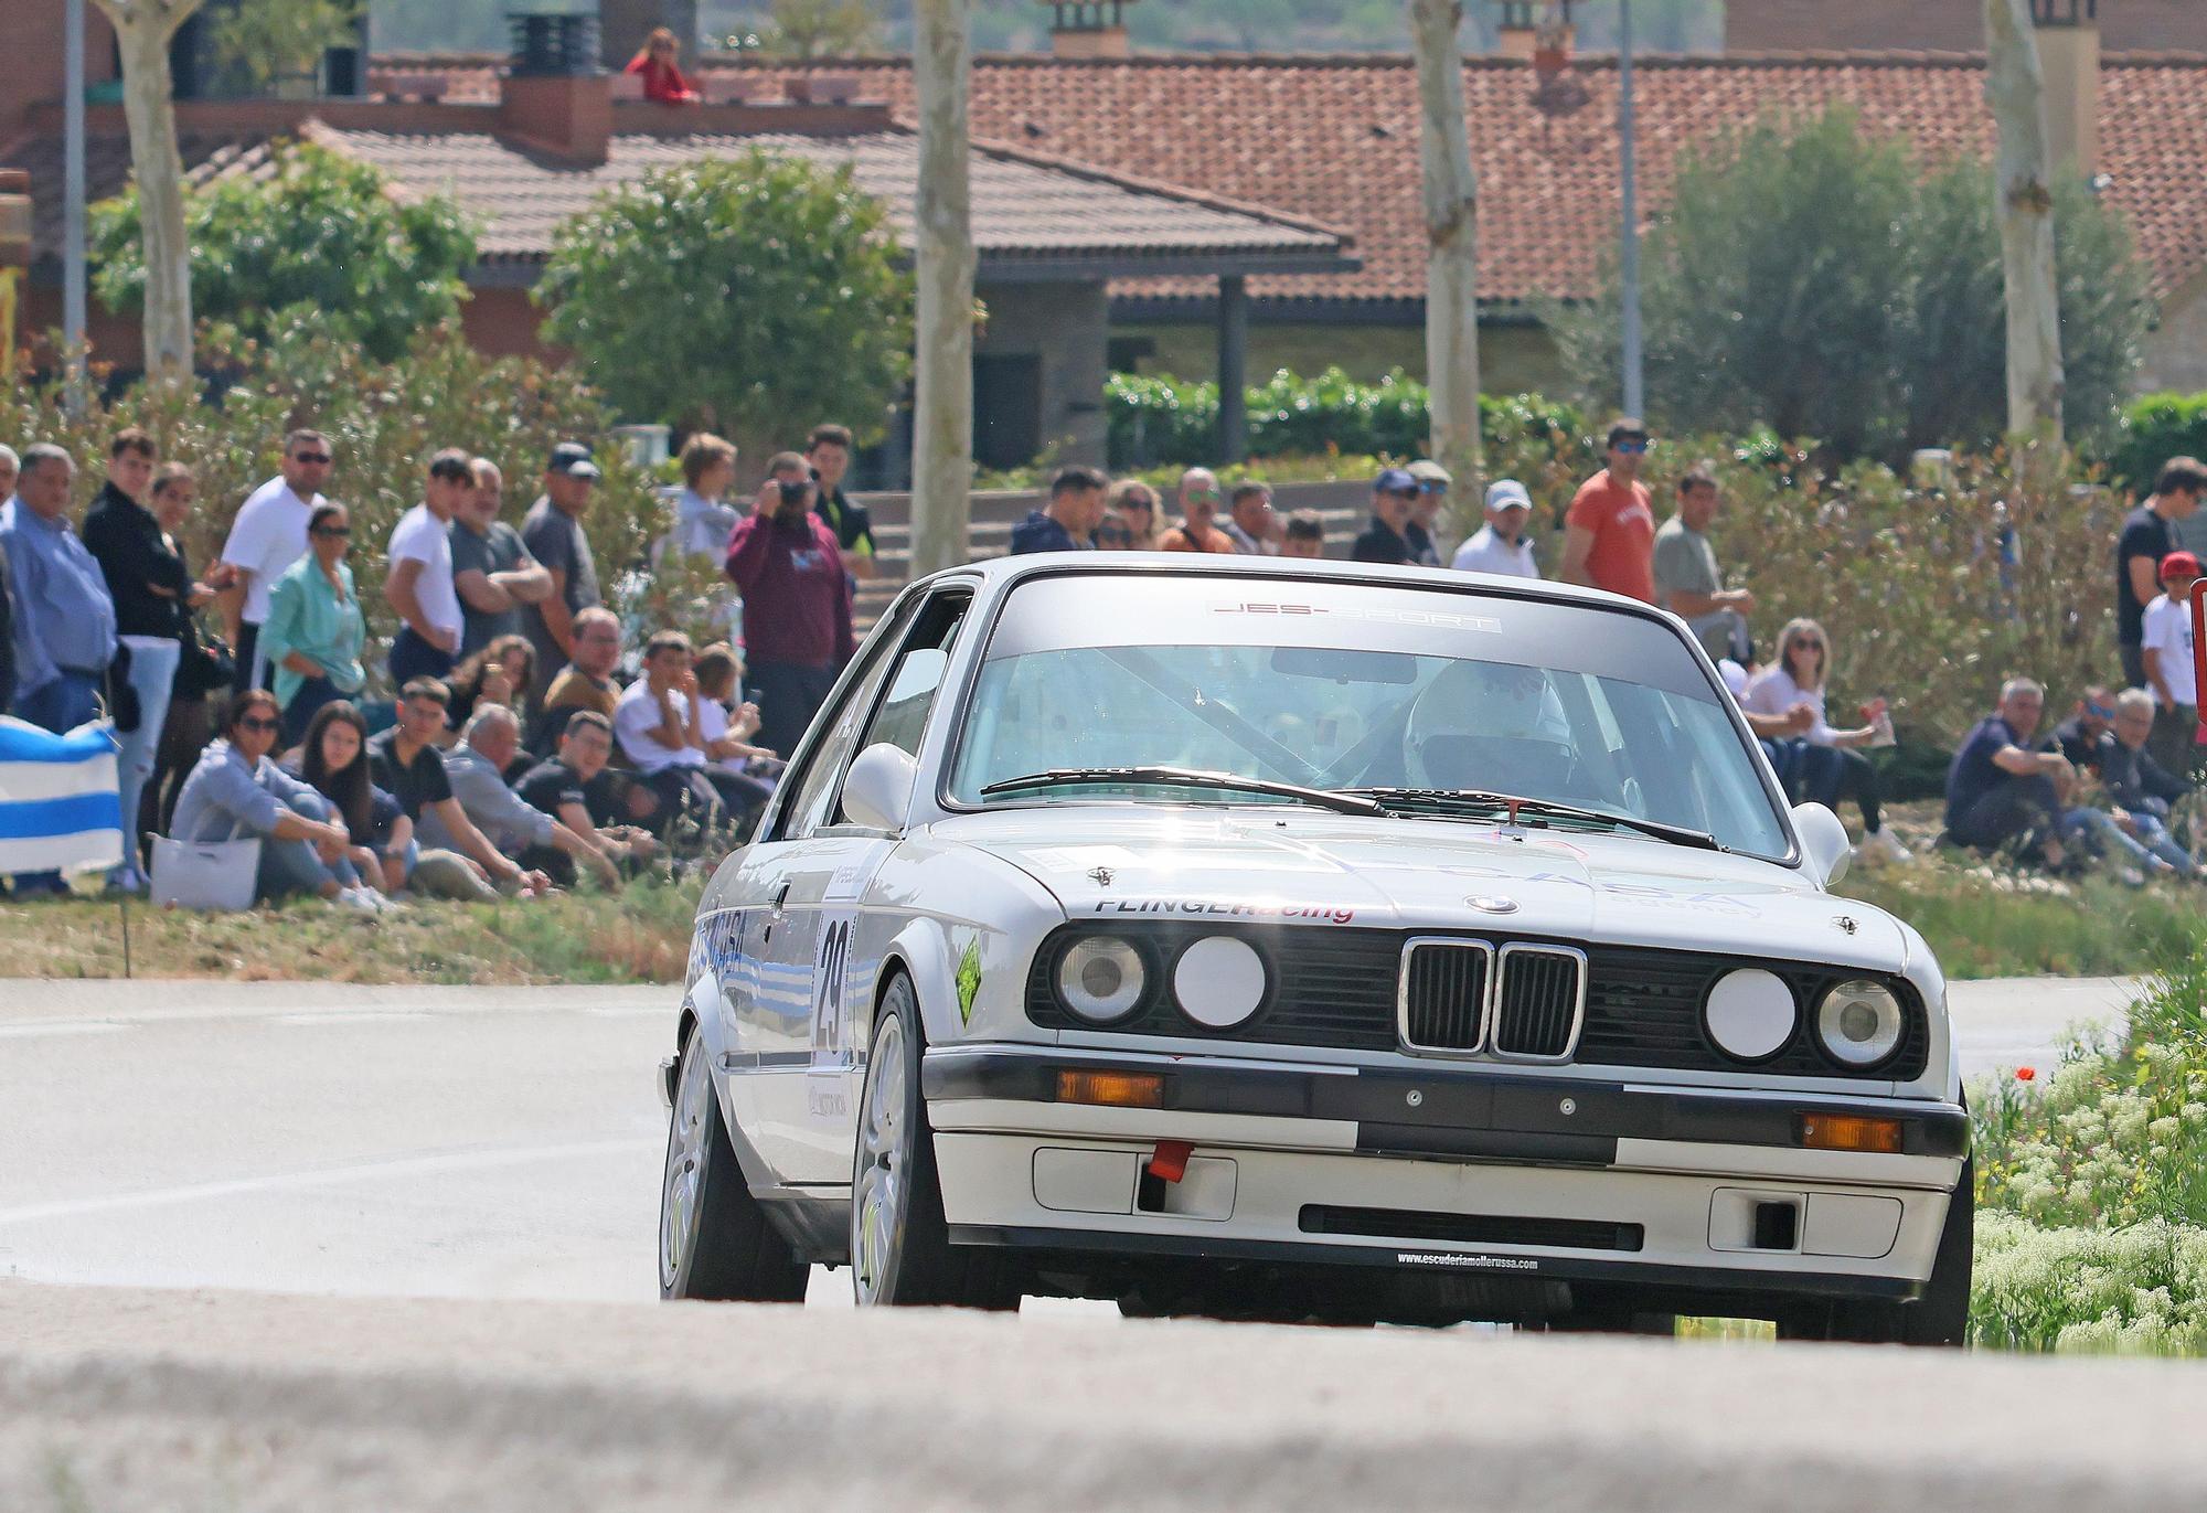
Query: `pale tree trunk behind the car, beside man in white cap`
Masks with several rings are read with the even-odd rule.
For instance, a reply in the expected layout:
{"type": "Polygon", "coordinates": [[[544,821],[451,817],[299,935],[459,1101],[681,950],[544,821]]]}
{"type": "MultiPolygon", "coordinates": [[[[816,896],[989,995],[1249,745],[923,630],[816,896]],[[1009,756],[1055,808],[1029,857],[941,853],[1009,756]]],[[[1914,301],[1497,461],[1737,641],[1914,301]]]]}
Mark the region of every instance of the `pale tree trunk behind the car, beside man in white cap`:
{"type": "Polygon", "coordinates": [[[1426,198],[1426,384],[1432,457],[1457,479],[1452,534],[1479,518],[1479,179],[1463,126],[1461,0],[1410,0],[1426,198]]]}

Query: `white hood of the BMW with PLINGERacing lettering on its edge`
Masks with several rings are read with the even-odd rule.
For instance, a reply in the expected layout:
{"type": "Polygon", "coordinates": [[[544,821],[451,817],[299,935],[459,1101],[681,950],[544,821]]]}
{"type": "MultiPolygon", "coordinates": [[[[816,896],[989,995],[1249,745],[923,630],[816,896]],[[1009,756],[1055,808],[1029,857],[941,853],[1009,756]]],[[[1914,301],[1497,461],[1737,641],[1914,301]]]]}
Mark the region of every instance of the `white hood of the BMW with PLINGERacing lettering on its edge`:
{"type": "Polygon", "coordinates": [[[934,834],[1026,871],[1073,920],[1494,931],[1907,966],[1889,915],[1794,867],[1629,834],[1145,805],[962,814],[934,834]]]}

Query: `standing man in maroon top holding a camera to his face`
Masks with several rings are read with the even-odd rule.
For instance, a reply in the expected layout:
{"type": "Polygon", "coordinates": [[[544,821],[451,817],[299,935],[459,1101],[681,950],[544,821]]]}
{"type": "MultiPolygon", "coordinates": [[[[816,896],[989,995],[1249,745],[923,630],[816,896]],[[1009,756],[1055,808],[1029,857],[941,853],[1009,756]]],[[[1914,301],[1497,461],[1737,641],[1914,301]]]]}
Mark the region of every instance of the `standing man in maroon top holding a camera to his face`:
{"type": "Polygon", "coordinates": [[[814,512],[819,485],[797,452],[777,452],[753,512],[728,536],[728,578],[744,593],[744,655],[759,706],[757,743],[797,750],[859,648],[850,578],[834,529],[814,512]]]}

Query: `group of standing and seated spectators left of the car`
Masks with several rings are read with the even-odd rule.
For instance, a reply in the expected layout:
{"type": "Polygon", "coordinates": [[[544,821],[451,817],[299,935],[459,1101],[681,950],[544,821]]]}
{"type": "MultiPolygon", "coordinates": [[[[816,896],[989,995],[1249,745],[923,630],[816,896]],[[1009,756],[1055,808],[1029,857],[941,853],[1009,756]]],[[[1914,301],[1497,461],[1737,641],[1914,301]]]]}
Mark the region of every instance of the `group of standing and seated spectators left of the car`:
{"type": "MultiPolygon", "coordinates": [[[[600,474],[578,441],[552,448],[519,529],[497,463],[430,454],[375,545],[353,538],[327,434],[294,430],[280,457],[194,576],[196,479],[143,430],[113,439],[82,534],[75,461],[0,448],[0,710],[55,732],[113,719],[128,845],[110,889],[154,882],[154,836],[258,840],[256,898],[366,913],[585,876],[616,889],[746,834],[854,651],[874,540],[843,492],[841,426],[777,454],[750,509],[724,503],[733,446],[695,437],[682,454],[671,545],[742,589],[748,688],[731,644],[629,642],[603,602],[585,529],[600,474]],[[386,613],[362,604],[362,549],[384,554],[386,613]],[[393,624],[388,642],[371,624],[393,624]]],[[[66,891],[57,873],[9,889],[66,891]]]]}

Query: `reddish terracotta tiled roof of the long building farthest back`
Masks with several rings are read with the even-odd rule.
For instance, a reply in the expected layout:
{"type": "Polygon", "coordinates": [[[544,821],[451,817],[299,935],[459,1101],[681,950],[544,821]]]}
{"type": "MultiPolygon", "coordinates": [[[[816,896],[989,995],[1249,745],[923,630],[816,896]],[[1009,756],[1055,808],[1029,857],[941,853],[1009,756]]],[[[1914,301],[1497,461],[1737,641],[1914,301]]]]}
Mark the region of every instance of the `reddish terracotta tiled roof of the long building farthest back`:
{"type": "MultiPolygon", "coordinates": [[[[861,97],[909,115],[903,60],[753,73],[854,75],[861,97]]],[[[2114,55],[2101,73],[2101,170],[2136,229],[2154,287],[2207,269],[2207,57],[2114,55]]],[[[1536,90],[1523,62],[1468,60],[1465,112],[1479,170],[1479,287],[1485,300],[1593,289],[1618,203],[1613,60],[1582,57],[1563,88],[1536,90]]],[[[1657,57],[1638,71],[1640,183],[1668,196],[1684,148],[1761,112],[1861,108],[1929,159],[1989,152],[1982,60],[1960,53],[1657,57]]],[[[1251,278],[1256,296],[1421,300],[1417,79],[1406,57],[1137,55],[1059,62],[980,57],[973,132],[1165,179],[1346,227],[1362,271],[1251,278]]],[[[1117,289],[1117,285],[1115,285],[1117,289]]],[[[1201,293],[1201,285],[1148,285],[1201,293]]]]}

